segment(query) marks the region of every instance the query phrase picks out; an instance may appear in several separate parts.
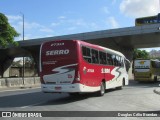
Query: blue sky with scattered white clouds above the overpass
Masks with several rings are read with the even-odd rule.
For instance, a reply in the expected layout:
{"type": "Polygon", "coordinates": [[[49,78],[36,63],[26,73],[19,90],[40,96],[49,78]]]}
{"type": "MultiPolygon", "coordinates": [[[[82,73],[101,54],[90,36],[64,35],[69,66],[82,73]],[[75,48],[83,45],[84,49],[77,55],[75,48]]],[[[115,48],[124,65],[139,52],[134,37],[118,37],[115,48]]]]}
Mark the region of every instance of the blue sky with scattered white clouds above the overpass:
{"type": "MultiPolygon", "coordinates": [[[[157,15],[159,0],[0,0],[0,12],[25,40],[134,26],[157,15]]],[[[151,49],[146,49],[147,51],[151,49]]]]}

